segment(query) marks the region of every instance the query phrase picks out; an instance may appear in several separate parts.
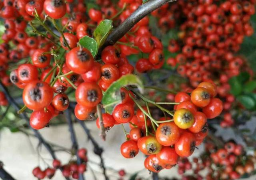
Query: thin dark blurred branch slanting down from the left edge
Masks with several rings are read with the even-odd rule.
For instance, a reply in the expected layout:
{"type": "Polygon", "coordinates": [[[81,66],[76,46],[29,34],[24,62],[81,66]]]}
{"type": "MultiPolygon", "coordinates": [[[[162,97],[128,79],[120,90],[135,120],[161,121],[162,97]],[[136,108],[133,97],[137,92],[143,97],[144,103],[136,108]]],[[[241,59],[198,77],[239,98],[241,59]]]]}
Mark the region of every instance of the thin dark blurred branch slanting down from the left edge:
{"type": "MultiPolygon", "coordinates": [[[[14,109],[16,111],[20,110],[20,106],[17,104],[17,102],[12,98],[12,96],[10,95],[10,93],[8,92],[7,88],[4,86],[4,84],[0,81],[0,89],[3,90],[8,102],[14,107],[14,109]]],[[[28,126],[30,127],[30,129],[34,132],[35,136],[38,138],[39,143],[42,143],[44,145],[44,147],[48,150],[48,152],[50,153],[50,155],[52,156],[53,159],[56,159],[54,150],[52,149],[52,147],[50,146],[50,144],[48,144],[44,138],[42,137],[42,135],[38,132],[38,130],[35,130],[33,128],[31,128],[31,126],[29,125],[29,118],[27,116],[27,114],[21,113],[19,114],[21,118],[23,118],[24,120],[26,120],[28,126]]],[[[69,178],[66,178],[66,180],[69,180],[69,178]]]]}

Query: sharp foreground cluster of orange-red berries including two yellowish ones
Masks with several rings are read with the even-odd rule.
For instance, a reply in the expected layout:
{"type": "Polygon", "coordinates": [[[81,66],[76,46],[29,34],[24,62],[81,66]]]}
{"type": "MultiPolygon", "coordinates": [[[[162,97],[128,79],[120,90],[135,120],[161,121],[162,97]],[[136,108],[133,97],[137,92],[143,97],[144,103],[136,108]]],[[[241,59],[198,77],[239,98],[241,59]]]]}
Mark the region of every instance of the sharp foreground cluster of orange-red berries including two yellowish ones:
{"type": "Polygon", "coordinates": [[[190,156],[195,147],[202,143],[208,134],[207,118],[215,118],[222,112],[222,102],[214,98],[216,94],[216,87],[210,82],[200,83],[190,95],[179,92],[175,96],[177,104],[174,106],[176,111],[173,120],[160,118],[156,131],[150,132],[152,135],[147,132],[150,116],[147,117],[143,113],[146,111],[150,114],[146,106],[138,109],[136,115],[133,115],[134,109],[120,104],[114,110],[114,118],[110,114],[104,114],[103,118],[108,123],[112,119],[112,126],[114,120],[118,123],[132,122],[132,126],[136,127],[131,128],[129,140],[121,145],[122,155],[125,158],[133,158],[140,150],[148,155],[144,162],[145,167],[152,172],[159,172],[164,168],[172,168],[178,162],[179,156],[190,156]],[[202,108],[202,112],[198,111],[198,108],[202,108]],[[128,114],[126,121],[120,121],[119,117],[123,116],[123,119],[128,114]]]}

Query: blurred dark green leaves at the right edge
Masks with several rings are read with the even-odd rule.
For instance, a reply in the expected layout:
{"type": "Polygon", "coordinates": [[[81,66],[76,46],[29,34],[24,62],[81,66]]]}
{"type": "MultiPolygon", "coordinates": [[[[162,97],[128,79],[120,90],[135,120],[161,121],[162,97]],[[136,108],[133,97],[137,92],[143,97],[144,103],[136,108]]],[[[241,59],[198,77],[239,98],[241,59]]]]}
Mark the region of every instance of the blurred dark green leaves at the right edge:
{"type": "Polygon", "coordinates": [[[241,72],[229,80],[230,93],[248,110],[256,110],[256,80],[250,80],[248,72],[241,72]]]}

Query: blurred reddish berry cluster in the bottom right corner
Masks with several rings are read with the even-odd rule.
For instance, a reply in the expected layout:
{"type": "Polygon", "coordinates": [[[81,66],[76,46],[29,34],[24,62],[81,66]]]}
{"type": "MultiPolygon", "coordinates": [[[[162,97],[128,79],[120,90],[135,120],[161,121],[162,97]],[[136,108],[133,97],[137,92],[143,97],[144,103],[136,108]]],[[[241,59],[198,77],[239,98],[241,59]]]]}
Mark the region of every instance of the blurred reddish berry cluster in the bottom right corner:
{"type": "Polygon", "coordinates": [[[234,180],[254,171],[255,156],[246,155],[244,147],[240,144],[230,141],[226,142],[223,148],[218,148],[209,142],[205,144],[205,150],[200,157],[193,158],[191,163],[186,158],[179,162],[178,172],[182,174],[182,180],[203,179],[200,175],[203,170],[207,170],[204,177],[206,180],[234,180]],[[192,177],[184,175],[185,170],[191,169],[192,177]]]}

